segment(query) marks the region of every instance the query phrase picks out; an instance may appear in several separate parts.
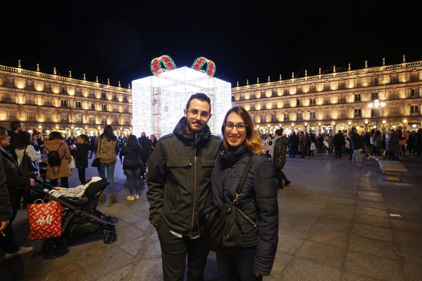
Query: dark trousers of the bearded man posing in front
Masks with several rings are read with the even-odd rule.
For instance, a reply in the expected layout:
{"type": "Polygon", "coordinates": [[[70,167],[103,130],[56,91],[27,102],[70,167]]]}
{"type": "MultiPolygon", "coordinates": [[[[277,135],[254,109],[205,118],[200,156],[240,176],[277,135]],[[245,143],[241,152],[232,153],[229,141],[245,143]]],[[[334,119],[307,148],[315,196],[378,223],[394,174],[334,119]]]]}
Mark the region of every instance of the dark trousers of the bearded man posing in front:
{"type": "Polygon", "coordinates": [[[187,280],[203,281],[209,251],[203,248],[199,238],[174,236],[163,222],[157,234],[161,245],[163,280],[183,281],[187,254],[187,280]]]}

